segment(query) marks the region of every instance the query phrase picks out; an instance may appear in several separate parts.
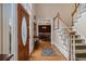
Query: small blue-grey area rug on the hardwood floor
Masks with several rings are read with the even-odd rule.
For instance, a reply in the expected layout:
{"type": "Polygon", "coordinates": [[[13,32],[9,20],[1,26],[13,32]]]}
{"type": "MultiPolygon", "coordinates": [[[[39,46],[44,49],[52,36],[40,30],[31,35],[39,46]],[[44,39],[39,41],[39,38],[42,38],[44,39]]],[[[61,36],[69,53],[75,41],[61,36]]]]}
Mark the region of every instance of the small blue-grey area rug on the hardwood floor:
{"type": "Polygon", "coordinates": [[[53,50],[51,48],[44,48],[41,51],[41,56],[54,56],[53,50]]]}

